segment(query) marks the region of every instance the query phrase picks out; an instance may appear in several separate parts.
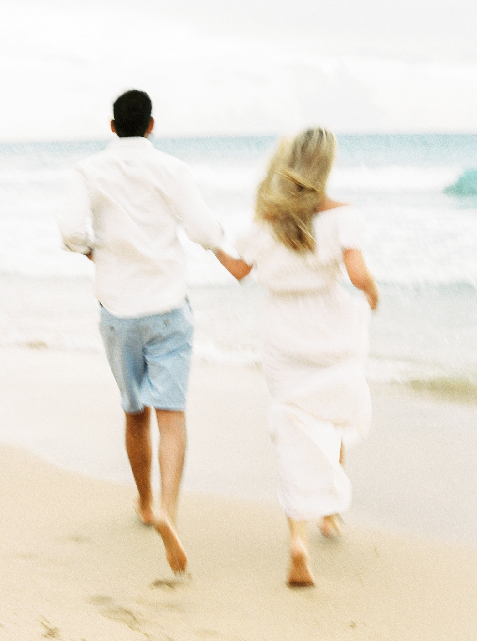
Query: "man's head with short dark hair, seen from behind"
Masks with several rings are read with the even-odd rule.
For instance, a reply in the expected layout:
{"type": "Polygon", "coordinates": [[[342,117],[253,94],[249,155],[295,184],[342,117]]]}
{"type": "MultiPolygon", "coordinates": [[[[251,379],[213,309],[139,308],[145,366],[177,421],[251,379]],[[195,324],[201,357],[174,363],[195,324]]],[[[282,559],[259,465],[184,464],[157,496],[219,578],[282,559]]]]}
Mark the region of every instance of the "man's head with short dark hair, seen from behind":
{"type": "Polygon", "coordinates": [[[146,92],[132,89],[113,104],[114,128],[120,138],[144,136],[151,120],[153,103],[146,92]]]}

